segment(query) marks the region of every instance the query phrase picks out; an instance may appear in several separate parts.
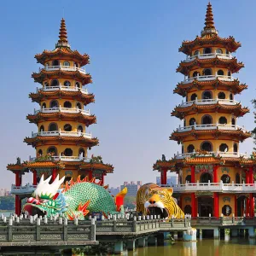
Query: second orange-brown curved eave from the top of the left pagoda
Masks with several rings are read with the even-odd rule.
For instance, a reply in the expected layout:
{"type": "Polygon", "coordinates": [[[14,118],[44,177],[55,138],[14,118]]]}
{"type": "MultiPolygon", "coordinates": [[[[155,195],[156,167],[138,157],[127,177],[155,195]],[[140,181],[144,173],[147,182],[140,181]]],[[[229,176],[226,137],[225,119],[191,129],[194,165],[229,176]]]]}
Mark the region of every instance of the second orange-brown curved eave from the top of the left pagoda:
{"type": "Polygon", "coordinates": [[[90,73],[80,73],[77,71],[65,71],[65,70],[55,70],[46,71],[42,69],[40,73],[32,73],[32,79],[36,83],[43,84],[45,79],[77,79],[79,82],[84,84],[92,83],[90,73]]]}

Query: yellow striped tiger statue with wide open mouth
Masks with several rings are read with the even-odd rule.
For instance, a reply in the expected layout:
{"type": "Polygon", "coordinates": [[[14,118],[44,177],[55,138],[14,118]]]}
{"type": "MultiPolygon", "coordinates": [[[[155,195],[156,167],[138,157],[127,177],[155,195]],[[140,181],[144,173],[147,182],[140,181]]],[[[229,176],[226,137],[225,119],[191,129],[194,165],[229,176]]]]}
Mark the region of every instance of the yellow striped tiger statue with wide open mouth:
{"type": "Polygon", "coordinates": [[[161,188],[154,183],[146,183],[137,191],[137,213],[160,215],[160,218],[184,218],[184,212],[172,197],[172,188],[161,188]]]}

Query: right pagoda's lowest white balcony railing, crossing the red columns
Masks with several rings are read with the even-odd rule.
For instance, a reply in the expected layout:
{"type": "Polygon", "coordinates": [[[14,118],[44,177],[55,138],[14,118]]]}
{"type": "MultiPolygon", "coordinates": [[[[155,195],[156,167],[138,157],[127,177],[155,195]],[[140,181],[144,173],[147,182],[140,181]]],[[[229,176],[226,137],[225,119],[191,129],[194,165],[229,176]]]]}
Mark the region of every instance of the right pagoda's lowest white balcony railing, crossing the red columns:
{"type": "Polygon", "coordinates": [[[161,187],[173,188],[173,192],[220,192],[220,193],[255,193],[256,181],[254,183],[184,183],[176,185],[161,184],[161,187]]]}

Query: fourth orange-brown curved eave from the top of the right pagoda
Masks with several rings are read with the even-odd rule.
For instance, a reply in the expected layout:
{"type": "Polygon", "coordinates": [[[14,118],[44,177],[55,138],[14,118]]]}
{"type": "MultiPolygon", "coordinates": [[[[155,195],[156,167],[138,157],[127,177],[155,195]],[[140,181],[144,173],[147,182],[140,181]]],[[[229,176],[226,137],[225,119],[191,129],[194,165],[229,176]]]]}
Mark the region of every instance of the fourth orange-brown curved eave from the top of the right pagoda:
{"type": "Polygon", "coordinates": [[[171,115],[176,116],[179,119],[183,119],[188,114],[201,113],[204,110],[206,110],[207,112],[212,111],[218,113],[233,113],[236,117],[241,117],[244,114],[250,112],[248,108],[242,108],[240,103],[236,105],[224,105],[219,103],[208,105],[196,105],[194,103],[193,105],[186,108],[174,108],[171,115]]]}

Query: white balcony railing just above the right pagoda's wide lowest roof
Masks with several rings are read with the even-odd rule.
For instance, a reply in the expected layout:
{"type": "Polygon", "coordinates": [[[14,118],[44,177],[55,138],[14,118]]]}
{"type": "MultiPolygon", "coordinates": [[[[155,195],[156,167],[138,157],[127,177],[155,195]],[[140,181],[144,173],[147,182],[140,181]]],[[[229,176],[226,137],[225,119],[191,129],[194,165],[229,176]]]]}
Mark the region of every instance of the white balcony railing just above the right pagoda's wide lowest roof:
{"type": "MultiPolygon", "coordinates": [[[[204,154],[204,156],[221,156],[221,157],[231,157],[231,158],[240,158],[240,157],[244,157],[244,158],[248,158],[247,154],[244,153],[240,153],[240,152],[220,152],[220,151],[212,151],[212,152],[208,152],[209,154],[204,154]]],[[[191,153],[178,153],[174,154],[174,159],[184,159],[184,158],[190,158],[190,157],[194,157],[194,156],[201,156],[200,154],[198,154],[196,151],[191,152],[191,153]]]]}

